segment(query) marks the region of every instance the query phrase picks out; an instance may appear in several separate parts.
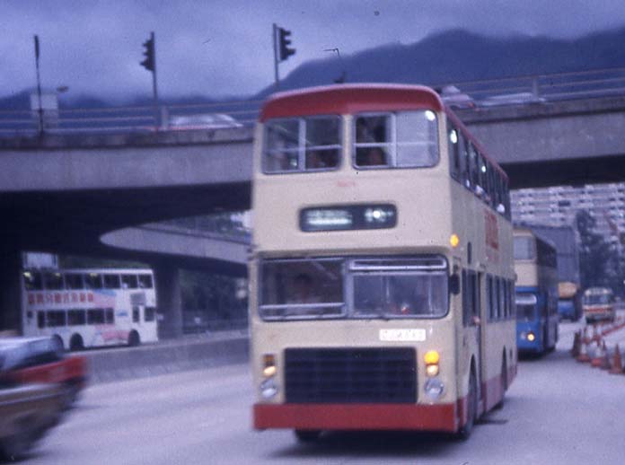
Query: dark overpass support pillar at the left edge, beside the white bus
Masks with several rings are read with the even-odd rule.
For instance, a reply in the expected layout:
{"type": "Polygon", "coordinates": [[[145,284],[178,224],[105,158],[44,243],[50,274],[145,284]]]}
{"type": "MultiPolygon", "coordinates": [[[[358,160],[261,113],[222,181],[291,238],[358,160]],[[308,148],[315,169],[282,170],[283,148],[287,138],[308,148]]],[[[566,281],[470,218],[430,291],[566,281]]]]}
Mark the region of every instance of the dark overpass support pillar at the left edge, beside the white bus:
{"type": "Polygon", "coordinates": [[[22,334],[22,253],[0,251],[0,333],[22,334]]]}

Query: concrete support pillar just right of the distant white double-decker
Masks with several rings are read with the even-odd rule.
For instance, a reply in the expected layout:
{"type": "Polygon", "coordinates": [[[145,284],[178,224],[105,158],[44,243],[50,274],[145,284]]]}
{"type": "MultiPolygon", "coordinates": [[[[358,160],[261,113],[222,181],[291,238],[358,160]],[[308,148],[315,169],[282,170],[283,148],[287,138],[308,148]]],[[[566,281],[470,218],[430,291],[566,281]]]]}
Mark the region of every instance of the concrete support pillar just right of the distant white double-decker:
{"type": "Polygon", "coordinates": [[[180,295],[180,269],[163,262],[154,267],[156,305],[158,306],[158,337],[161,339],[182,336],[182,296],[180,295]]]}

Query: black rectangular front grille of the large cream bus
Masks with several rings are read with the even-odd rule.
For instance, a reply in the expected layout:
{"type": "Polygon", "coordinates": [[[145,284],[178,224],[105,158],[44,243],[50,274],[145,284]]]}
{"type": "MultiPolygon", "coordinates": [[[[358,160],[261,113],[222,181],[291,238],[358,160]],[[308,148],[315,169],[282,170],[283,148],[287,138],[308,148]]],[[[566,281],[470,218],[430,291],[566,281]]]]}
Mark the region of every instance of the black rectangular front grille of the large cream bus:
{"type": "Polygon", "coordinates": [[[411,347],[289,348],[288,403],[415,403],[416,353],[411,347]]]}

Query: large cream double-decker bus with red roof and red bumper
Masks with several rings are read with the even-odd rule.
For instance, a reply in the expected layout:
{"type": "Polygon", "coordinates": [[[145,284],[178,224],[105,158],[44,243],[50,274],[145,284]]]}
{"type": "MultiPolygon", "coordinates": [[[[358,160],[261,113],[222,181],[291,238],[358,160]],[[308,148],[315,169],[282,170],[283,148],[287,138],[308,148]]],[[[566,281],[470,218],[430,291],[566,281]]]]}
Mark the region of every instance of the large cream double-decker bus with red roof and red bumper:
{"type": "Polygon", "coordinates": [[[505,173],[420,86],[279,93],[255,141],[255,428],[470,434],[516,373],[505,173]]]}

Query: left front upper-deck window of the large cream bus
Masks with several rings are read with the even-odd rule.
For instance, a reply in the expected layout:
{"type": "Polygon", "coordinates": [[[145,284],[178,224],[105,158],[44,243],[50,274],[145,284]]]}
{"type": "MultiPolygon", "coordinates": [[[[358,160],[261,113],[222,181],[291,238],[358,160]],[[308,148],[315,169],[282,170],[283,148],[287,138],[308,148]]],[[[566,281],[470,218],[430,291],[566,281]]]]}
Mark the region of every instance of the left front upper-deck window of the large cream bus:
{"type": "Polygon", "coordinates": [[[263,171],[333,170],[340,162],[340,119],[334,116],[268,120],[263,171]]]}

